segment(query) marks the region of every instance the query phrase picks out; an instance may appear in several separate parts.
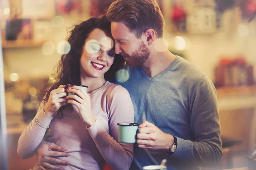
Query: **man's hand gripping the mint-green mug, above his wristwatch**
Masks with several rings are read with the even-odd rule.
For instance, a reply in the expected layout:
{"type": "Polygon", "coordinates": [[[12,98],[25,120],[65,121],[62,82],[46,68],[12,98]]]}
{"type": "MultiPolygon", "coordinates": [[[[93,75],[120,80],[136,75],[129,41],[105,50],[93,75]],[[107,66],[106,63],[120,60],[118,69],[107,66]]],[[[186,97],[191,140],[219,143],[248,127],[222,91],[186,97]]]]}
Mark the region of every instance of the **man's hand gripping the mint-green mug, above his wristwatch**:
{"type": "Polygon", "coordinates": [[[147,121],[144,121],[139,127],[139,133],[137,134],[137,144],[139,147],[169,151],[169,147],[174,142],[172,135],[164,133],[158,127],[147,121]]]}

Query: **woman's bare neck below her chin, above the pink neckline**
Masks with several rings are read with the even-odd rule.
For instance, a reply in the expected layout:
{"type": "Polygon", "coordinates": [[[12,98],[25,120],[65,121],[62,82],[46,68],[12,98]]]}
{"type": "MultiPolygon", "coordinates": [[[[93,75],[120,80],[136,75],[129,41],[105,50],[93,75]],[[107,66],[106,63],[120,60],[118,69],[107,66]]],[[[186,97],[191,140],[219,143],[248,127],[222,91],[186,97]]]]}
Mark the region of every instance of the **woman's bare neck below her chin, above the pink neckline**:
{"type": "Polygon", "coordinates": [[[106,80],[104,77],[100,78],[90,78],[90,77],[81,77],[81,85],[88,86],[87,93],[91,93],[92,91],[102,87],[104,85],[106,80]]]}

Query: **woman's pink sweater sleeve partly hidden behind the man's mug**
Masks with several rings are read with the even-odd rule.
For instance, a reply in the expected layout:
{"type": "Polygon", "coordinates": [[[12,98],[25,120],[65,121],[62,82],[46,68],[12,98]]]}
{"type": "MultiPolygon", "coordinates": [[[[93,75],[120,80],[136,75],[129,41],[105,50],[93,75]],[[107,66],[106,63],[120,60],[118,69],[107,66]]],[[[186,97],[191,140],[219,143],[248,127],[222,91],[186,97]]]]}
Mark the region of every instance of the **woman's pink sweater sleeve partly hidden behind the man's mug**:
{"type": "Polygon", "coordinates": [[[128,91],[117,86],[109,103],[109,133],[98,120],[87,129],[105,161],[115,170],[128,170],[133,160],[134,145],[117,142],[117,123],[120,122],[134,122],[134,107],[128,91]]]}

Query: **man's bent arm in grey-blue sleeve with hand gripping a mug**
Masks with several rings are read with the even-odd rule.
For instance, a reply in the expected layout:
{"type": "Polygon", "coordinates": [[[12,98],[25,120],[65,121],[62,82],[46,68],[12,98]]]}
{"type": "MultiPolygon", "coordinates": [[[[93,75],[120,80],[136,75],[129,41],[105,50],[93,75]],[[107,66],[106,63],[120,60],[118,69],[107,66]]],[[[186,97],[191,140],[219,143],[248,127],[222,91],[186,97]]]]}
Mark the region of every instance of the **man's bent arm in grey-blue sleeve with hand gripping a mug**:
{"type": "MultiPolygon", "coordinates": [[[[189,114],[193,140],[177,137],[177,149],[170,156],[203,166],[221,161],[221,129],[217,108],[217,95],[208,77],[201,78],[198,88],[190,101],[189,114]]],[[[163,133],[155,125],[143,122],[137,135],[139,147],[164,150],[172,146],[173,136],[163,133]]]]}

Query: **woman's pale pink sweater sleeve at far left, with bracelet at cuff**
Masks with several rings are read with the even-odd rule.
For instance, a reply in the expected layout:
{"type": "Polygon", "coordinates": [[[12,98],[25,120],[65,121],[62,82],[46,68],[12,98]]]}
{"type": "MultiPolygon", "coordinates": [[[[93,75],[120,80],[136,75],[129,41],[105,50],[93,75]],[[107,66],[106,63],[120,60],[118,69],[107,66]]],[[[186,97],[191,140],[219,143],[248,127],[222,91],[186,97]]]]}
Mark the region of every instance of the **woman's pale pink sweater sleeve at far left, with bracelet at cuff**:
{"type": "MultiPolygon", "coordinates": [[[[38,119],[38,122],[43,127],[47,127],[52,120],[52,117],[47,116],[47,114],[44,113],[43,106],[39,107],[35,118],[38,119]]],[[[38,123],[34,121],[35,118],[22,132],[18,141],[17,153],[22,159],[28,159],[35,154],[36,148],[42,142],[44,134],[47,130],[39,126],[38,123]]]]}

